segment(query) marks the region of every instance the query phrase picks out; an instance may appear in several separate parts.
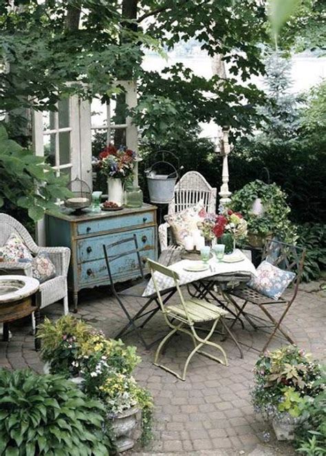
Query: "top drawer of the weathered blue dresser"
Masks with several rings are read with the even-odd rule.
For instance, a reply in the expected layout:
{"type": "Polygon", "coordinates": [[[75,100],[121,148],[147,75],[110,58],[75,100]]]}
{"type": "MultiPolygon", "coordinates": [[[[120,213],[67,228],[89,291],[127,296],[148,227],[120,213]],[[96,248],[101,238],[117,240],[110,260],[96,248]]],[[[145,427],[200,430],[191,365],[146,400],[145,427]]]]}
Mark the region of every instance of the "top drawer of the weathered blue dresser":
{"type": "Polygon", "coordinates": [[[109,230],[122,230],[123,228],[129,228],[131,226],[143,226],[144,224],[153,223],[153,211],[130,215],[121,215],[120,217],[112,216],[106,217],[104,219],[81,221],[77,225],[77,234],[78,236],[93,235],[97,232],[109,230]]]}

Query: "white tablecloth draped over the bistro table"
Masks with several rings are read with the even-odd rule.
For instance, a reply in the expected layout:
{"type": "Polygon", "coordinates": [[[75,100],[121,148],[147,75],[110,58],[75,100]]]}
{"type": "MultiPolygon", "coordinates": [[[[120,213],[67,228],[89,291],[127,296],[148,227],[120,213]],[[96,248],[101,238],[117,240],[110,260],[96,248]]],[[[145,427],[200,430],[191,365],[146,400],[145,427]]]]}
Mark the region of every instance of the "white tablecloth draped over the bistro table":
{"type": "MultiPolygon", "coordinates": [[[[205,279],[206,277],[216,276],[217,274],[226,274],[229,272],[246,272],[250,273],[251,275],[256,275],[256,269],[254,265],[246,257],[245,254],[241,252],[241,250],[236,250],[235,254],[239,254],[243,257],[242,261],[237,261],[237,263],[226,263],[224,261],[217,262],[215,258],[211,258],[208,261],[210,268],[202,271],[202,272],[190,272],[184,270],[184,267],[191,262],[191,260],[182,260],[174,263],[173,265],[169,266],[169,269],[177,272],[180,277],[180,285],[186,285],[187,283],[195,282],[200,279],[205,279]]],[[[155,281],[160,289],[167,290],[168,288],[174,287],[174,281],[171,277],[165,276],[160,272],[155,272],[155,281]]],[[[151,294],[155,293],[155,288],[153,284],[153,279],[151,279],[144,290],[142,296],[150,296],[151,294]]]]}

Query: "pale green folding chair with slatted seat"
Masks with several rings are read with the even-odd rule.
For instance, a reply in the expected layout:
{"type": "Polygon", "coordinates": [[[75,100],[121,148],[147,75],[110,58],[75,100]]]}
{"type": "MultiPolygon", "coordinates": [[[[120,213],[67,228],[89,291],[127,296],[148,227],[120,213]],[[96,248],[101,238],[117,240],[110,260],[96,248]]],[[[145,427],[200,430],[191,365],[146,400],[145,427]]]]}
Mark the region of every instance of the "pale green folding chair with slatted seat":
{"type": "Polygon", "coordinates": [[[175,375],[177,378],[180,378],[180,380],[186,380],[186,371],[188,369],[189,362],[191,361],[191,358],[193,358],[195,353],[202,354],[215,361],[221,362],[221,364],[223,365],[228,366],[228,359],[226,358],[226,352],[224,351],[224,349],[217,343],[210,341],[210,337],[213,335],[219,319],[224,318],[224,316],[226,316],[228,312],[224,309],[217,307],[215,304],[209,303],[202,299],[190,298],[188,300],[185,300],[184,296],[182,296],[182,292],[179,285],[179,276],[177,272],[169,268],[166,268],[166,266],[163,266],[160,263],[156,263],[155,261],[152,261],[150,259],[148,259],[147,261],[149,263],[149,269],[151,271],[153,284],[157,293],[157,298],[160,303],[162,314],[164,315],[166,324],[171,328],[171,331],[168,334],[166,334],[166,336],[162,339],[160,345],[157,347],[154,365],[162,367],[162,369],[170,373],[173,373],[173,375],[175,375]],[[160,294],[160,288],[157,284],[157,273],[169,276],[173,279],[177,290],[177,294],[180,298],[180,303],[173,305],[164,305],[164,302],[162,301],[162,296],[160,294]],[[209,321],[213,322],[213,325],[210,328],[210,331],[208,332],[207,336],[205,338],[202,338],[199,336],[199,334],[197,334],[195,325],[197,325],[198,323],[204,323],[209,321]],[[195,348],[193,349],[193,351],[191,351],[191,354],[189,354],[188,358],[186,359],[182,376],[180,376],[179,373],[173,371],[172,369],[169,369],[169,367],[166,367],[158,362],[160,358],[160,353],[165,343],[173,336],[173,334],[177,333],[178,331],[188,334],[188,336],[191,336],[191,338],[193,339],[193,343],[195,345],[195,348]],[[207,353],[206,351],[201,350],[201,348],[204,345],[210,345],[212,347],[219,349],[223,355],[223,359],[217,358],[217,356],[213,356],[207,353]]]}

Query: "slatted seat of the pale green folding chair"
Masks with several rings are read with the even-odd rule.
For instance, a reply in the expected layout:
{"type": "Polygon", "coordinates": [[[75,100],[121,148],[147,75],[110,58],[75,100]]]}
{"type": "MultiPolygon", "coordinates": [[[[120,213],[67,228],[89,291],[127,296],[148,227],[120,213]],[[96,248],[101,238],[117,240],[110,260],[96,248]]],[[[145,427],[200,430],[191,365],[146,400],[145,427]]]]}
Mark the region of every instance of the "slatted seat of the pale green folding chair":
{"type": "MultiPolygon", "coordinates": [[[[224,309],[221,309],[221,307],[217,307],[217,305],[208,303],[202,299],[188,299],[187,301],[184,301],[184,305],[186,306],[189,318],[191,318],[194,323],[216,320],[216,318],[228,314],[228,312],[224,309]]],[[[176,305],[167,305],[166,313],[175,316],[175,318],[178,318],[178,316],[180,316],[184,320],[187,319],[186,312],[182,303],[176,305]]]]}

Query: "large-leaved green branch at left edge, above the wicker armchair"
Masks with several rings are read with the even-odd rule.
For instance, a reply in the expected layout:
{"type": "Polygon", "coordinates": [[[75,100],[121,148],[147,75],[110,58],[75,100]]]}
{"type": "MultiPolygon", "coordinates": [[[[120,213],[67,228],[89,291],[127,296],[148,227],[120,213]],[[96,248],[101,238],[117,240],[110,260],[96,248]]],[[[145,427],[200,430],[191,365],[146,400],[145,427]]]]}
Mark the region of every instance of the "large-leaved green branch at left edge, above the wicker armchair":
{"type": "Polygon", "coordinates": [[[67,195],[70,193],[65,177],[56,177],[42,157],[10,140],[0,124],[0,206],[5,210],[10,204],[24,208],[36,221],[45,210],[58,210],[56,198],[67,195]]]}

